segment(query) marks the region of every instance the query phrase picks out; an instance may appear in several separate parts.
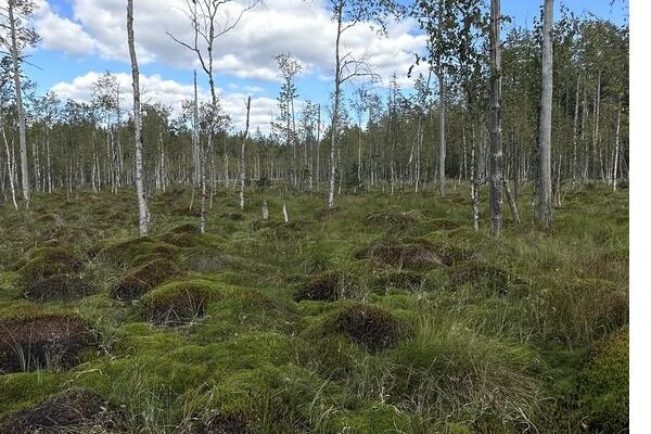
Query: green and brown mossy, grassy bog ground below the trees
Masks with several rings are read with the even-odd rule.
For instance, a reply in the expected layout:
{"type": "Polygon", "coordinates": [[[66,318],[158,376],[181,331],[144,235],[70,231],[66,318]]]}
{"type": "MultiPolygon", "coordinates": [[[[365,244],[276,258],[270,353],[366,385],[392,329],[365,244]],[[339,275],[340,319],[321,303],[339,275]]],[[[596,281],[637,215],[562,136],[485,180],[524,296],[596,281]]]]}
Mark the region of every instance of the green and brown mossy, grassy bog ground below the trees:
{"type": "Polygon", "coordinates": [[[131,190],[3,205],[0,432],[626,430],[627,190],[497,241],[448,190],[220,192],[204,235],[168,190],[144,239],[131,190]]]}

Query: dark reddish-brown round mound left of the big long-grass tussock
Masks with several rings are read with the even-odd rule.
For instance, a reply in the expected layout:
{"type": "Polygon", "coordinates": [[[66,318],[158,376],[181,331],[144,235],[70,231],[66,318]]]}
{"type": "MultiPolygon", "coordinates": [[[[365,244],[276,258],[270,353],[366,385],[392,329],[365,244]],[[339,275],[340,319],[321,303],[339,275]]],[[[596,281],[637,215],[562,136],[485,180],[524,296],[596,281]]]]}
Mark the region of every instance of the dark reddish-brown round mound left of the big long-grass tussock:
{"type": "Polygon", "coordinates": [[[391,312],[369,304],[353,304],[334,317],[333,330],[374,353],[395,345],[400,322],[391,312]]]}

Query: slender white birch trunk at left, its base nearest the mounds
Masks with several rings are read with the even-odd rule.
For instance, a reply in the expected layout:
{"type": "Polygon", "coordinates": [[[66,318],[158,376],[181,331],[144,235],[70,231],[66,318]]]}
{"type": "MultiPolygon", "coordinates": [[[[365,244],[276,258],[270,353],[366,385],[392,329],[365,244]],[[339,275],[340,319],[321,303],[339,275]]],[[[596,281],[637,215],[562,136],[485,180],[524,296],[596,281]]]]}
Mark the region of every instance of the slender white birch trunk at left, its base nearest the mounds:
{"type": "Polygon", "coordinates": [[[131,56],[131,75],[133,76],[133,140],[136,144],[136,191],[138,195],[138,221],[140,237],[146,235],[149,227],[149,209],[144,196],[144,170],[142,167],[142,119],[140,115],[140,75],[133,42],[133,0],[127,0],[127,36],[129,55],[131,56]]]}

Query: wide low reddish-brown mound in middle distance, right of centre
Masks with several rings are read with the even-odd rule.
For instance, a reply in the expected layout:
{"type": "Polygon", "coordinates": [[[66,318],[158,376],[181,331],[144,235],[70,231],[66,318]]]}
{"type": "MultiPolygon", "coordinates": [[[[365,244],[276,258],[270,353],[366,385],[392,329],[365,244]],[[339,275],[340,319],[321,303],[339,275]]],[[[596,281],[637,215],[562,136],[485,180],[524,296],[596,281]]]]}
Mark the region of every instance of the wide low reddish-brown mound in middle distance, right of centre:
{"type": "Polygon", "coordinates": [[[465,252],[423,239],[406,242],[383,239],[357,253],[358,258],[368,257],[392,267],[409,269],[450,266],[465,256],[465,252]]]}

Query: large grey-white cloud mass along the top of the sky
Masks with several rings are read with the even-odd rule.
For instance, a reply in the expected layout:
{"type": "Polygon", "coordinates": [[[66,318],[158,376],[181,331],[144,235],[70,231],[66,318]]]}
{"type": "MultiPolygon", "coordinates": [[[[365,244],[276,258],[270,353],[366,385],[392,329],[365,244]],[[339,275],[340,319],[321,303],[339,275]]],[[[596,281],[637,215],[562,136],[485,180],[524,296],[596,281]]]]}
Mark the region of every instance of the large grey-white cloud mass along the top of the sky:
{"type": "MultiPolygon", "coordinates": [[[[197,66],[193,53],[166,35],[170,33],[180,40],[192,40],[192,28],[183,10],[186,2],[139,0],[135,3],[135,31],[141,64],[197,66]]],[[[44,4],[37,24],[46,48],[74,55],[98,53],[103,59],[128,61],[124,0],[73,0],[73,17],[61,17],[48,3],[44,4]]],[[[235,14],[241,8],[239,4],[227,3],[230,8],[227,11],[235,14]]],[[[275,56],[291,52],[304,64],[305,73],[330,76],[335,36],[330,16],[318,1],[265,0],[261,7],[246,12],[234,30],[218,40],[216,72],[244,79],[276,80],[275,56]]],[[[380,37],[368,23],[360,23],[344,34],[343,44],[356,56],[365,58],[382,76],[383,82],[393,72],[404,79],[413,62],[413,53],[425,43],[423,36],[413,34],[414,28],[414,22],[403,21],[390,26],[388,37],[380,37]]]]}

